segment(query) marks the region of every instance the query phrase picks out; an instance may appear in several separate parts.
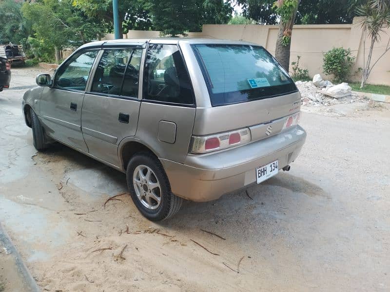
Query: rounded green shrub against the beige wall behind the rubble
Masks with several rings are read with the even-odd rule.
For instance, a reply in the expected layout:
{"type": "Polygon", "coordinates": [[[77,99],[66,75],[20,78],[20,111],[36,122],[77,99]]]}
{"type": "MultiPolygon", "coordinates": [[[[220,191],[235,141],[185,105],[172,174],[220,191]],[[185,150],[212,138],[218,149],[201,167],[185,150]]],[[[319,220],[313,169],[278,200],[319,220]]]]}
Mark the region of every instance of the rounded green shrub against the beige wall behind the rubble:
{"type": "Polygon", "coordinates": [[[335,82],[343,82],[351,74],[354,59],[351,49],[333,48],[324,54],[324,73],[333,75],[335,82]]]}

